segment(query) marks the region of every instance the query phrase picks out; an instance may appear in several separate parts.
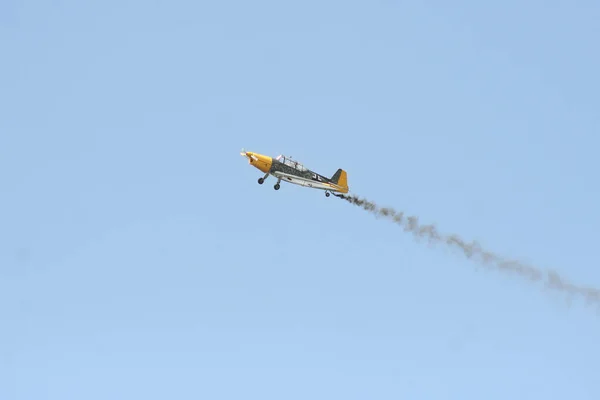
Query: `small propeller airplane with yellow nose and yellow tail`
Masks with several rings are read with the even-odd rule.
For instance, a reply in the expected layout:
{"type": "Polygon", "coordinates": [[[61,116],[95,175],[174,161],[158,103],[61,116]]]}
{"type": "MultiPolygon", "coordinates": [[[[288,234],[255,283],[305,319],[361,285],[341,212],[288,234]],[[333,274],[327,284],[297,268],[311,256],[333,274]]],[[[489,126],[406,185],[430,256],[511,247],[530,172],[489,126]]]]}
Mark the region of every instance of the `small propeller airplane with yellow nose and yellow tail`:
{"type": "Polygon", "coordinates": [[[292,160],[291,157],[278,155],[275,158],[263,154],[245,151],[242,149],[240,155],[248,158],[248,163],[253,167],[264,172],[265,175],[258,178],[258,183],[262,185],[269,175],[277,178],[277,183],[273,186],[279,190],[281,181],[293,183],[295,185],[321,189],[325,191],[325,196],[341,197],[336,193],[348,193],[348,174],[343,169],[338,169],[331,178],[320,175],[306,168],[301,163],[292,160]]]}

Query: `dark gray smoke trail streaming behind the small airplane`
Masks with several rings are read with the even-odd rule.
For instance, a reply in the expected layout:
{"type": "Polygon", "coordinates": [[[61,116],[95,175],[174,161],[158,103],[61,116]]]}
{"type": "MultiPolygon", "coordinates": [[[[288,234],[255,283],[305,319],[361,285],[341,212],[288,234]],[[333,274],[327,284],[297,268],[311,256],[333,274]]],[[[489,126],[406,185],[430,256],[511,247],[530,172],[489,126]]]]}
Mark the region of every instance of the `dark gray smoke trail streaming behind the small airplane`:
{"type": "Polygon", "coordinates": [[[543,272],[519,261],[507,260],[490,251],[483,250],[477,242],[467,243],[457,235],[443,235],[437,231],[434,225],[420,225],[417,217],[405,216],[403,212],[397,212],[387,207],[379,207],[372,201],[355,196],[343,194],[336,194],[336,196],[377,216],[390,218],[394,223],[402,226],[405,232],[410,232],[417,238],[428,238],[430,244],[445,243],[460,249],[470,259],[478,258],[487,267],[492,268],[495,266],[499,270],[519,274],[534,282],[543,280],[549,288],[566,292],[571,296],[583,296],[588,304],[594,302],[600,304],[600,290],[598,289],[576,286],[565,281],[554,271],[543,272]]]}

